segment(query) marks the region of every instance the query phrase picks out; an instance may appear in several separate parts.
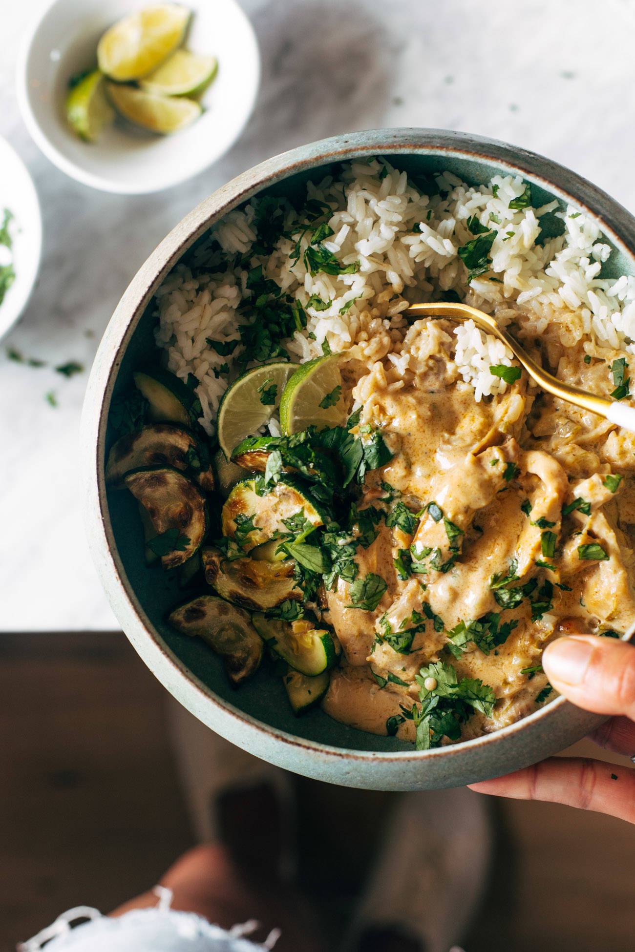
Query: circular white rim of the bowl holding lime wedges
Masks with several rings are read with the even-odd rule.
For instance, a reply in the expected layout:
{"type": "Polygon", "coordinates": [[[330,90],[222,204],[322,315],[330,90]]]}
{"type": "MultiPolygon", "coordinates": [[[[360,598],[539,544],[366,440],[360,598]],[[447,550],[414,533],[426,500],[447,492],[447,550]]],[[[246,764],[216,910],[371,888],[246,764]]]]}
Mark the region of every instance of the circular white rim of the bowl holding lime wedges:
{"type": "MultiPolygon", "coordinates": [[[[225,0],[225,3],[231,4],[231,6],[236,10],[237,15],[244,22],[245,29],[250,36],[252,43],[252,52],[254,58],[253,64],[255,70],[255,82],[251,91],[248,109],[245,110],[243,121],[236,129],[233,139],[228,142],[226,149],[224,149],[219,155],[211,160],[208,160],[206,157],[205,150],[201,150],[201,161],[195,168],[187,169],[185,171],[175,170],[172,174],[164,174],[162,178],[157,179],[153,184],[146,187],[134,183],[113,181],[107,175],[100,175],[96,172],[91,172],[69,159],[61,149],[58,149],[53,145],[49,136],[44,131],[37,119],[37,116],[35,115],[35,110],[32,108],[30,102],[29,74],[30,51],[42,27],[42,23],[53,7],[56,7],[58,4],[64,2],[65,0],[46,0],[46,2],[35,11],[30,20],[30,26],[20,44],[15,67],[16,97],[18,101],[18,108],[20,109],[25,126],[29,130],[30,136],[35,145],[44,153],[44,155],[46,155],[46,157],[50,160],[50,162],[52,162],[54,166],[56,166],[57,169],[60,169],[60,171],[64,172],[66,175],[69,175],[69,178],[74,179],[76,182],[80,182],[82,185],[86,185],[89,188],[96,188],[99,191],[106,191],[114,195],[149,195],[154,192],[164,191],[167,188],[173,188],[174,186],[188,182],[189,179],[194,178],[196,175],[200,175],[201,172],[208,169],[211,165],[219,162],[220,159],[228,153],[229,149],[232,149],[233,146],[235,146],[245,131],[256,105],[256,100],[258,98],[262,81],[262,57],[256,31],[254,30],[253,24],[251,23],[247,13],[245,10],[243,10],[237,0],[225,0]]],[[[174,168],[176,169],[176,167],[174,168]]]]}

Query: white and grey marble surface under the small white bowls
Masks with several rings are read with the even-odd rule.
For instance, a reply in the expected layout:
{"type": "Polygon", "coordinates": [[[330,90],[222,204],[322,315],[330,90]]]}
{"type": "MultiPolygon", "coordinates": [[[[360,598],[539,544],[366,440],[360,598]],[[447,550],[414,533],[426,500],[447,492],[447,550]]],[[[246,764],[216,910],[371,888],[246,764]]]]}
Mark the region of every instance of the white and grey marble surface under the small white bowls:
{"type": "Polygon", "coordinates": [[[244,0],[264,62],[246,133],[208,172],[138,198],[78,185],[30,141],[13,71],[38,6],[8,5],[0,34],[0,134],[30,167],[45,227],[38,287],[0,347],[0,630],[116,627],[80,510],[88,368],[149,251],[238,172],[347,129],[445,127],[542,152],[635,211],[629,0],[244,0]],[[50,366],[10,361],[7,347],[50,366]],[[71,359],[85,372],[67,380],[51,369],[71,359]]]}

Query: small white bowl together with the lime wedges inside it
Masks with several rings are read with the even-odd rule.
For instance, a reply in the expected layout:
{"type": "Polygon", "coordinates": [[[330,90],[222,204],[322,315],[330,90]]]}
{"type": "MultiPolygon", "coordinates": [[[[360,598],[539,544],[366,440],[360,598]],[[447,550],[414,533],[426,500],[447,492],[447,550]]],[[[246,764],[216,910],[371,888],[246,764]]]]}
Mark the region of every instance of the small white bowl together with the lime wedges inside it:
{"type": "Polygon", "coordinates": [[[31,136],[58,169],[91,188],[131,195],[177,185],[219,159],[245,128],[259,83],[256,37],[235,0],[52,0],[26,37],[16,86],[31,136]],[[141,50],[143,75],[124,83],[136,77],[126,62],[134,30],[114,35],[114,50],[100,40],[125,18],[157,7],[183,11],[183,23],[171,30],[171,47],[164,30],[155,68],[141,50]],[[98,65],[109,76],[69,100],[78,78],[98,65]]]}

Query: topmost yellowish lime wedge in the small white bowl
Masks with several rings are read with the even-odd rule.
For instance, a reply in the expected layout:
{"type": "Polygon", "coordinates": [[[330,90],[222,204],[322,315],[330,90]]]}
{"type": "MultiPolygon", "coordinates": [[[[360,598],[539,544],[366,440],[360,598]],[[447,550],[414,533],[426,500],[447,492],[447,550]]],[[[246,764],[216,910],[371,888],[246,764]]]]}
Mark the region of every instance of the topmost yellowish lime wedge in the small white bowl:
{"type": "Polygon", "coordinates": [[[147,76],[181,46],[188,21],[189,10],[174,3],[130,13],[99,41],[99,69],[120,83],[147,76]]]}

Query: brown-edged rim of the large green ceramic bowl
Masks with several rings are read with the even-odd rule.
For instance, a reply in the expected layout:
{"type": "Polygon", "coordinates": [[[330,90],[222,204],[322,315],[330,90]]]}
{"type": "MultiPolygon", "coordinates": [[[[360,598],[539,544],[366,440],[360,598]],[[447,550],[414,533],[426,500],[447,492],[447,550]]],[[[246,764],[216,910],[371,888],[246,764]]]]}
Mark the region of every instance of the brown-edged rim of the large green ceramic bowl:
{"type": "MultiPolygon", "coordinates": [[[[600,188],[586,181],[566,167],[534,152],[481,136],[446,129],[370,129],[318,140],[276,155],[248,169],[226,185],[218,188],[167,235],[152,251],[145,264],[137,271],[124,292],[110,319],[90,373],[82,414],[81,442],[84,467],[85,517],[89,546],[110,605],[124,628],[129,641],[149,665],[155,676],[200,720],[215,731],[228,736],[232,726],[238,736],[230,739],[255,753],[273,760],[271,744],[282,743],[292,750],[298,747],[311,752],[324,763],[354,761],[357,764],[432,764],[435,761],[456,761],[467,751],[482,751],[498,745],[509,748],[517,735],[526,734],[538,723],[552,722],[562,728],[555,744],[540,743],[540,751],[531,744],[517,744],[516,767],[534,763],[542,757],[563,749],[582,739],[589,729],[604,718],[589,714],[569,704],[563,697],[545,707],[490,734],[427,751],[366,751],[308,741],[295,734],[274,728],[230,704],[216,695],[170,651],[159,633],[149,622],[142,605],[129,585],[120,559],[106,499],[104,478],[105,436],[112,389],[121,366],[129,339],[143,315],[149,300],[169,269],[200,235],[216,220],[248,200],[253,194],[299,171],[320,167],[329,162],[347,161],[375,153],[434,154],[458,156],[467,160],[486,161],[501,166],[502,171],[515,172],[529,182],[546,188],[554,196],[583,208],[603,229],[616,248],[635,262],[635,218],[600,188]],[[209,708],[213,717],[207,716],[209,708]],[[213,721],[213,724],[211,723],[213,721]],[[568,728],[567,728],[568,724],[568,728]],[[248,734],[260,734],[268,753],[253,750],[248,734]],[[566,735],[566,743],[563,736],[566,735]]],[[[632,639],[635,625],[625,633],[632,639]]],[[[555,731],[554,731],[555,733],[555,731]]],[[[294,769],[287,761],[290,769],[294,769]]],[[[303,772],[302,767],[297,769],[303,772]]],[[[331,767],[332,769],[332,767],[331,767]]],[[[500,772],[500,771],[499,771],[500,772]]],[[[482,777],[493,776],[491,769],[481,771],[482,777]]],[[[473,778],[474,780],[476,778],[473,778]]],[[[348,783],[348,780],[340,783],[348,783]]],[[[464,781],[465,782],[465,781],[464,781]]],[[[353,783],[352,785],[360,785],[353,783]]],[[[364,785],[367,785],[366,783],[364,785]]],[[[456,785],[446,783],[445,785],[456,785]]],[[[386,788],[386,787],[383,787],[386,788]]],[[[396,787],[406,788],[406,787],[396,787]]]]}

